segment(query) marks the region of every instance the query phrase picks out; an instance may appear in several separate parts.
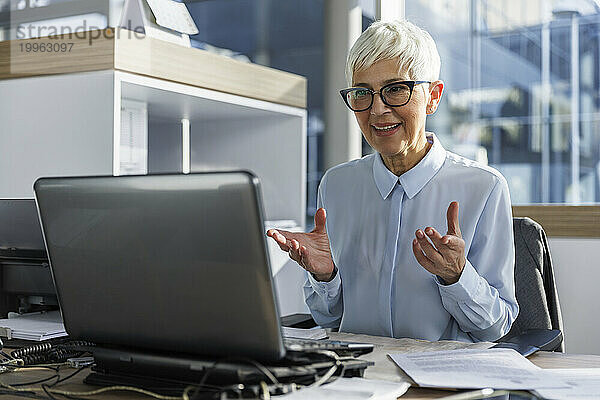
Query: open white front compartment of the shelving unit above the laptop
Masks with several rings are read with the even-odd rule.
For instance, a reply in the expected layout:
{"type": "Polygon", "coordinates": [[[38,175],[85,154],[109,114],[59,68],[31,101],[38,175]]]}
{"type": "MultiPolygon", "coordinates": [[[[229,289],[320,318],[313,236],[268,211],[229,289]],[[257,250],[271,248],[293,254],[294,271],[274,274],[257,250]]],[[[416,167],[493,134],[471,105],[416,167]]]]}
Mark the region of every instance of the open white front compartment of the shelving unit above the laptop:
{"type": "MultiPolygon", "coordinates": [[[[148,107],[150,173],[183,172],[186,154],[191,172],[250,170],[261,180],[266,219],[304,225],[306,110],[119,71],[114,79],[116,108],[119,99],[148,107]]],[[[119,173],[116,159],[113,168],[119,173]]]]}

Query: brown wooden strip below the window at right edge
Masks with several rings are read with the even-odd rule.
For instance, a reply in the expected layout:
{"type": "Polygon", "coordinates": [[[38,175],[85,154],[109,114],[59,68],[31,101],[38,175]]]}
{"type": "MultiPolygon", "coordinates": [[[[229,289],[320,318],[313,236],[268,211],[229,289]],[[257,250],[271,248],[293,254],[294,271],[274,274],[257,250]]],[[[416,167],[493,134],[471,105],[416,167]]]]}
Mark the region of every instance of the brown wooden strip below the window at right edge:
{"type": "Polygon", "coordinates": [[[548,237],[600,238],[600,205],[513,206],[514,217],[538,222],[548,237]]]}

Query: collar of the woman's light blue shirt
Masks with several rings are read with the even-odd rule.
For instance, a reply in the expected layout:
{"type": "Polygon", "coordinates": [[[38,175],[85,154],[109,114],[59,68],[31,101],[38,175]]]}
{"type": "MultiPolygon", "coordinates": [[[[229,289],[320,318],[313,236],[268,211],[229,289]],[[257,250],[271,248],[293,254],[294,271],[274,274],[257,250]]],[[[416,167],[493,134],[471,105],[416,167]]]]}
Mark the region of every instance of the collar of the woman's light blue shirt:
{"type": "Polygon", "coordinates": [[[400,183],[408,198],[412,199],[442,167],[446,159],[446,150],[433,133],[427,135],[427,141],[433,144],[425,157],[399,177],[387,169],[379,153],[375,154],[373,177],[384,200],[392,193],[396,182],[400,183]]]}

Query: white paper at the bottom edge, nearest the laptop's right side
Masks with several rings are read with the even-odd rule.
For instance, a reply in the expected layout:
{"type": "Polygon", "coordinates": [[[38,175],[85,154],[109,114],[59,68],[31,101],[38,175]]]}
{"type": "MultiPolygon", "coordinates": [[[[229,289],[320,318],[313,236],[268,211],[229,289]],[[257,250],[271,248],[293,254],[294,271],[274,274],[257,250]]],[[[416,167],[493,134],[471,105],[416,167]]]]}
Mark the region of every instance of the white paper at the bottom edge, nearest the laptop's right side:
{"type": "Polygon", "coordinates": [[[306,388],[283,396],[285,400],[396,400],[402,396],[410,384],[408,382],[388,382],[363,378],[338,378],[327,385],[306,388]]]}

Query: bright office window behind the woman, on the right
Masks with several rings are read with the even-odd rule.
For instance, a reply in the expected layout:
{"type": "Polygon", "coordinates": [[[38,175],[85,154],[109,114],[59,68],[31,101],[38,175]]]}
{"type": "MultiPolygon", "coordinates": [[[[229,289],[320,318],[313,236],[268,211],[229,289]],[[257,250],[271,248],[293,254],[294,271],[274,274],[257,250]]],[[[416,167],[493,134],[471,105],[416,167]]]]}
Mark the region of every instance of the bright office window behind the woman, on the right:
{"type": "Polygon", "coordinates": [[[428,130],[500,170],[513,204],[600,202],[597,3],[418,0],[405,15],[442,58],[428,130]]]}

